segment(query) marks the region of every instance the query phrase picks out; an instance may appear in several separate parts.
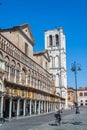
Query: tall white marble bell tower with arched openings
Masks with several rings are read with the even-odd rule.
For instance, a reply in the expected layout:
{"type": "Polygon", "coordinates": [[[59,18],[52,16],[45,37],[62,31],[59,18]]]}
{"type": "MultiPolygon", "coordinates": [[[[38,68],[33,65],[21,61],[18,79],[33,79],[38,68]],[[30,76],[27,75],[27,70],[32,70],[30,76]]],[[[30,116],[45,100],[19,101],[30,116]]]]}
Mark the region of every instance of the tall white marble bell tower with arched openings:
{"type": "Polygon", "coordinates": [[[45,31],[45,49],[50,56],[50,73],[55,80],[56,94],[65,98],[67,108],[66,43],[63,28],[45,31]]]}

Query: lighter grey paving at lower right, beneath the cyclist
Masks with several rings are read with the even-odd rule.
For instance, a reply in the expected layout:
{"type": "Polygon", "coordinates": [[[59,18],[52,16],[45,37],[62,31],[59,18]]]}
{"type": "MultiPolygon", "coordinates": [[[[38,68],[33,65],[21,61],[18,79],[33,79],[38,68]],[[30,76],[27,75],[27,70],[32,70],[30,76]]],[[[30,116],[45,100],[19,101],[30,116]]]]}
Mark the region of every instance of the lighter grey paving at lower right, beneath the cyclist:
{"type": "Polygon", "coordinates": [[[28,130],[87,130],[87,110],[62,117],[61,125],[56,125],[55,121],[52,121],[28,130]]]}

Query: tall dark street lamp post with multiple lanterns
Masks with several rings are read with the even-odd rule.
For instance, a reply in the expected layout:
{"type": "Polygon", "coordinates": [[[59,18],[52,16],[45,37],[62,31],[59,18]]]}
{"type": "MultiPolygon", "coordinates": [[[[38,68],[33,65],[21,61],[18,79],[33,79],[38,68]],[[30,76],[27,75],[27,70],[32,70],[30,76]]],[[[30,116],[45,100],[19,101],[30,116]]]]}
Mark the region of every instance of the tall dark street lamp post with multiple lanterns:
{"type": "Polygon", "coordinates": [[[72,72],[75,74],[75,88],[76,88],[76,114],[79,114],[79,107],[78,107],[78,96],[77,96],[77,71],[81,71],[81,67],[79,64],[74,63],[72,64],[71,67],[72,72]]]}

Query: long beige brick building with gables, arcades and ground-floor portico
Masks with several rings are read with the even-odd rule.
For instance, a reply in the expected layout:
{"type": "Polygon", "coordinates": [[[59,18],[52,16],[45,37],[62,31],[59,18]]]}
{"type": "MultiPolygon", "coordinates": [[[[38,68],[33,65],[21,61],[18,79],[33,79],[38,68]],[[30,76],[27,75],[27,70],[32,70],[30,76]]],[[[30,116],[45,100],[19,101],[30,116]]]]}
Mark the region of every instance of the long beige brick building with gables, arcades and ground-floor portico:
{"type": "Polygon", "coordinates": [[[0,30],[0,116],[54,111],[59,102],[47,51],[33,52],[28,24],[0,30]]]}

